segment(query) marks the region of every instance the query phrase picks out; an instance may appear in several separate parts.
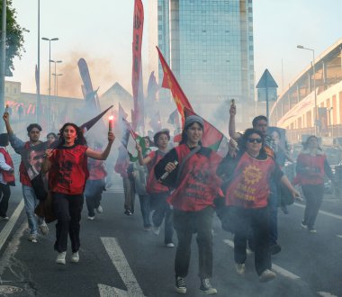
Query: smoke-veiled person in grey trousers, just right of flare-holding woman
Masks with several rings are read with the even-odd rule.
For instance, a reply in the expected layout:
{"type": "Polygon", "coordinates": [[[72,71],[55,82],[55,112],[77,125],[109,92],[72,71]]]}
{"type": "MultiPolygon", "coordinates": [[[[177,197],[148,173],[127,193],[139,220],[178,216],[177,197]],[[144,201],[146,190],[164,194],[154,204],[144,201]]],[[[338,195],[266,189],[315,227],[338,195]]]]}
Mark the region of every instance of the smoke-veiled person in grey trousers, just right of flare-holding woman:
{"type": "Polygon", "coordinates": [[[123,145],[119,147],[119,156],[116,160],[114,170],[116,173],[121,175],[123,183],[123,193],[125,196],[125,201],[123,207],[125,211],[124,214],[130,216],[134,213],[134,203],[135,203],[135,192],[133,184],[130,182],[130,176],[128,173],[128,168],[130,166],[130,157],[123,145]]]}

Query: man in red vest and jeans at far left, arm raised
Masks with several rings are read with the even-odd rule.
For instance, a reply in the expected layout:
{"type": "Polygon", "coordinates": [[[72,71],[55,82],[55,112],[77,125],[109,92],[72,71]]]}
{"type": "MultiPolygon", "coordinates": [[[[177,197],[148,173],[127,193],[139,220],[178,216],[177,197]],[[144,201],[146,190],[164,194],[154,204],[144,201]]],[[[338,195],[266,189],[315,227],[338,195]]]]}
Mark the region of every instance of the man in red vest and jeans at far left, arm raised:
{"type": "MultiPolygon", "coordinates": [[[[4,112],[4,123],[6,126],[6,130],[8,133],[8,137],[11,143],[12,148],[17,154],[22,156],[22,162],[19,166],[19,174],[20,174],[20,182],[22,183],[23,188],[23,201],[25,204],[25,211],[27,215],[27,220],[29,223],[30,234],[29,240],[31,242],[37,242],[37,225],[39,226],[40,232],[43,235],[47,235],[49,233],[48,225],[45,223],[44,218],[38,217],[34,214],[34,209],[38,205],[38,199],[36,193],[34,192],[31,184],[31,178],[28,173],[28,169],[26,169],[24,163],[25,160],[23,159],[24,151],[29,150],[31,148],[39,146],[42,142],[40,141],[40,131],[41,127],[38,123],[31,123],[27,128],[27,135],[29,137],[29,141],[23,142],[21,139],[18,139],[14,135],[14,131],[12,130],[10,124],[10,118],[8,112],[4,112]]],[[[32,160],[33,162],[33,160],[32,160]]],[[[34,166],[37,169],[40,169],[40,157],[34,158],[34,166]]]]}

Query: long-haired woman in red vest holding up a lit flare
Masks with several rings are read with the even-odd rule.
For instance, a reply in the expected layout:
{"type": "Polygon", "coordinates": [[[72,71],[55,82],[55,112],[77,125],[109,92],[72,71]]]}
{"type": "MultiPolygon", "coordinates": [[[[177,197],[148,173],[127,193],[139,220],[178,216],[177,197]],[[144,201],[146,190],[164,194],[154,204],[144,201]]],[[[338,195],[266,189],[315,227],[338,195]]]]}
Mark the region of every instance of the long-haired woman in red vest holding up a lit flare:
{"type": "Polygon", "coordinates": [[[53,211],[57,216],[55,250],[56,262],[66,264],[67,235],[71,240],[71,262],[79,261],[80,220],[84,202],[85,181],[89,175],[87,157],[105,160],[112,148],[115,136],[108,132],[108,145],[102,151],[87,148],[83,131],[67,122],[59,130],[60,144],[47,149],[42,171],[49,172],[49,191],[52,193],[53,211]]]}

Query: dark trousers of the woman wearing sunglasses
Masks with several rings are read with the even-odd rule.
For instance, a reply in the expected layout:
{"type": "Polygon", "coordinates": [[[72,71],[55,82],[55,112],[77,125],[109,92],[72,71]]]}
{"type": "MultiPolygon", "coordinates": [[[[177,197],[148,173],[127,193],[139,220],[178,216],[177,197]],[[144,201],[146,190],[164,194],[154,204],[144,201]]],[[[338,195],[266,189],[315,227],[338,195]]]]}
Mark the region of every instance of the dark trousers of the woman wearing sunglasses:
{"type": "Polygon", "coordinates": [[[238,264],[246,262],[247,237],[252,229],[255,250],[255,266],[257,275],[261,275],[266,269],[271,269],[271,253],[269,248],[269,228],[266,207],[245,209],[234,207],[230,212],[234,220],[234,260],[238,264]]]}

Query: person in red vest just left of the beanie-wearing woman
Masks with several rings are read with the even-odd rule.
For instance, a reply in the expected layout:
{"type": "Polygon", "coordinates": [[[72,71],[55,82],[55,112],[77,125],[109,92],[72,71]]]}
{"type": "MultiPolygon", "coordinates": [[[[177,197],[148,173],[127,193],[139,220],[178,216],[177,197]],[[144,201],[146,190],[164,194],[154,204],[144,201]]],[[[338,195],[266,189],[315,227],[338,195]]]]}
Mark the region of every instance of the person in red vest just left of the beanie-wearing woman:
{"type": "Polygon", "coordinates": [[[168,152],[168,141],[170,140],[170,131],[167,129],[158,131],[153,137],[154,143],[157,146],[156,151],[152,151],[147,157],[142,156],[142,150],[137,144],[139,164],[148,167],[148,182],[147,193],[150,195],[151,207],[155,210],[152,215],[153,232],[159,235],[160,226],[164,220],[164,243],[166,247],[175,247],[173,243],[174,224],[172,220],[172,210],[166,202],[170,195],[170,190],[167,186],[158,183],[154,175],[154,167],[157,162],[162,159],[168,152]]]}

